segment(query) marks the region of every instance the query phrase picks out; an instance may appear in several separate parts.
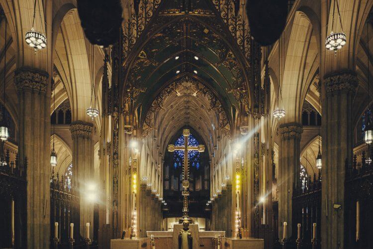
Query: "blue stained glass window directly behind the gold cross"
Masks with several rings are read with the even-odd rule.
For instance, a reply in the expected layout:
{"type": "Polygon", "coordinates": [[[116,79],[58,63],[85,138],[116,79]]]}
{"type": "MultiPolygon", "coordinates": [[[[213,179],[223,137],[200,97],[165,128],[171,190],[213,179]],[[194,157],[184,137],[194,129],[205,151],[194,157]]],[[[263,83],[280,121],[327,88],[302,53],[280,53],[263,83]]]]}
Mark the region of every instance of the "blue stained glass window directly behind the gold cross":
{"type": "MultiPolygon", "coordinates": [[[[189,146],[198,146],[198,140],[192,135],[189,134],[188,137],[189,146]]],[[[184,144],[184,135],[182,134],[175,142],[175,146],[185,146],[184,144]]],[[[199,169],[199,152],[197,150],[188,151],[188,162],[191,167],[199,169]]],[[[174,167],[182,167],[184,163],[184,150],[175,150],[174,151],[174,167]]]]}

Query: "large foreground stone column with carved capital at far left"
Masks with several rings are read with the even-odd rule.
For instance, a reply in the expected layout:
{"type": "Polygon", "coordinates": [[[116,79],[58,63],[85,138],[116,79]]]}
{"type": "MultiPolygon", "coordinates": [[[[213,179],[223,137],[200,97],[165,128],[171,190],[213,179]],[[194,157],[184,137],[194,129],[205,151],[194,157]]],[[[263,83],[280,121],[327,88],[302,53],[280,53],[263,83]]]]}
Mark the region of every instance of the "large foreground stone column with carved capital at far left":
{"type": "Polygon", "coordinates": [[[27,248],[50,242],[50,88],[48,73],[22,67],[15,71],[19,97],[19,158],[27,158],[27,248]]]}

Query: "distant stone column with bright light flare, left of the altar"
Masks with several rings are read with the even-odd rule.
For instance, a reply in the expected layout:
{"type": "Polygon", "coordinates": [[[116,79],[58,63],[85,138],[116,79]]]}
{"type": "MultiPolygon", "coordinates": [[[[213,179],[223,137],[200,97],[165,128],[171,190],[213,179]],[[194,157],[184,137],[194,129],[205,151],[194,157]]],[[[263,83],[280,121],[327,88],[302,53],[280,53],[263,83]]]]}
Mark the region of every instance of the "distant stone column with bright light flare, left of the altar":
{"type": "MultiPolygon", "coordinates": [[[[75,121],[70,125],[73,138],[73,181],[80,193],[80,234],[86,237],[86,224],[90,223],[90,238],[93,239],[93,202],[87,198],[90,184],[93,182],[93,124],[75,121]]],[[[98,191],[98,184],[95,186],[98,191]]],[[[98,197],[98,195],[97,195],[98,197]]]]}

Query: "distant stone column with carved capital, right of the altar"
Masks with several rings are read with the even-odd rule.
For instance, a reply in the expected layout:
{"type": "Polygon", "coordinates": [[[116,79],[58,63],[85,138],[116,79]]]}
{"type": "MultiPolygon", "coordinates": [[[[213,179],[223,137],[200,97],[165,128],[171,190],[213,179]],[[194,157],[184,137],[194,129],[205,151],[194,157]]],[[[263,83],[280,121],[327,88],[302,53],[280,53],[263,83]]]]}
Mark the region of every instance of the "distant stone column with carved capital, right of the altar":
{"type": "Polygon", "coordinates": [[[299,179],[300,137],[302,125],[287,123],[280,125],[279,147],[279,238],[282,239],[283,222],[287,222],[287,235],[291,237],[291,215],[293,188],[299,179]]]}

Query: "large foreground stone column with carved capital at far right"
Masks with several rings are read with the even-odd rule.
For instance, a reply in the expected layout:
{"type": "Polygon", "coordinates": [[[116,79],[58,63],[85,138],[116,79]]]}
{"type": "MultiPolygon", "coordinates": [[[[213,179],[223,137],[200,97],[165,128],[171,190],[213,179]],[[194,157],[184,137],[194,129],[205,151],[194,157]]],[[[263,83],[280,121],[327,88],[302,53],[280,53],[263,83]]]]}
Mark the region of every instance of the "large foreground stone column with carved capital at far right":
{"type": "Polygon", "coordinates": [[[345,161],[352,161],[352,103],[358,80],[353,72],[324,78],[321,240],[323,248],[343,249],[345,161]],[[334,204],[342,205],[341,209],[334,209],[334,204]]]}

